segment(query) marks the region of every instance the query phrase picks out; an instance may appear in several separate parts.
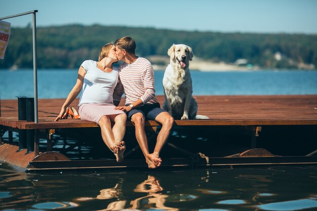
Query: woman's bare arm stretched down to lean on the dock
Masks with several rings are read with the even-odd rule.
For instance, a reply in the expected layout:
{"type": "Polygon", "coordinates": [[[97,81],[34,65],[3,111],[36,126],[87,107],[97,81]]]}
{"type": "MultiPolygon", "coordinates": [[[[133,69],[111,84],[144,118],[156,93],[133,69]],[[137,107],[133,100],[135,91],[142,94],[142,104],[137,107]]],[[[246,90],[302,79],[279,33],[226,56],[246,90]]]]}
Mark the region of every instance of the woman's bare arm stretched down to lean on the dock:
{"type": "Polygon", "coordinates": [[[68,97],[66,98],[66,100],[61,108],[61,111],[58,114],[58,116],[56,117],[55,121],[58,121],[59,119],[62,118],[62,116],[64,115],[64,113],[66,111],[66,108],[74,101],[74,99],[78,96],[78,94],[80,94],[82,87],[83,87],[85,75],[86,75],[86,71],[85,71],[84,67],[81,66],[78,70],[76,84],[72,88],[70,93],[68,94],[68,97]]]}

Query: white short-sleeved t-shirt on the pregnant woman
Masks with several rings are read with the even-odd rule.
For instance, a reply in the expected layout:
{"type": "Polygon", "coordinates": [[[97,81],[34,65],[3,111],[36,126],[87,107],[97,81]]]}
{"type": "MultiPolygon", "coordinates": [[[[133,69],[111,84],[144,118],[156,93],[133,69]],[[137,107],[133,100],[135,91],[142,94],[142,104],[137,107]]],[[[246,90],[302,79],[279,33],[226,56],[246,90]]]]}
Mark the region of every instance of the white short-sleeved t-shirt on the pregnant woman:
{"type": "Polygon", "coordinates": [[[113,92],[118,82],[118,69],[103,72],[97,67],[97,62],[86,60],[81,65],[86,71],[82,96],[78,105],[84,103],[113,104],[113,92]]]}

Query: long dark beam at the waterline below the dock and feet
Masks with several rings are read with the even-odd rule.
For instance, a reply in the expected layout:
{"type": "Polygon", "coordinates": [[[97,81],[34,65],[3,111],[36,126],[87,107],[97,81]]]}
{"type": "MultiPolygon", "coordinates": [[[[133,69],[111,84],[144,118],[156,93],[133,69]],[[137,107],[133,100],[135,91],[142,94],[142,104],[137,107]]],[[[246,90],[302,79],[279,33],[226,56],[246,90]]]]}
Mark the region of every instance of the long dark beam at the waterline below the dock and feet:
{"type": "MultiPolygon", "coordinates": [[[[188,167],[194,166],[223,166],[223,165],[273,165],[273,164],[316,164],[317,156],[283,156],[283,157],[209,157],[209,163],[205,158],[198,158],[192,163],[190,158],[164,159],[161,168],[164,167],[188,167]]],[[[57,160],[57,161],[31,161],[26,171],[39,170],[78,170],[78,169],[102,169],[102,168],[146,168],[143,159],[125,159],[123,162],[115,160],[57,160]]]]}

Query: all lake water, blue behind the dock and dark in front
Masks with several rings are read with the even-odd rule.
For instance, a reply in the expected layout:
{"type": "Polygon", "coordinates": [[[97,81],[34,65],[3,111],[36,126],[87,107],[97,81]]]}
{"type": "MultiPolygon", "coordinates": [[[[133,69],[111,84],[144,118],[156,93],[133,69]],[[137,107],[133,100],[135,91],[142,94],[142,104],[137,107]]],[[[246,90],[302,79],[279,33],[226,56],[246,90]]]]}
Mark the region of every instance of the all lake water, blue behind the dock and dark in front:
{"type": "MultiPolygon", "coordinates": [[[[38,70],[38,98],[66,98],[77,70],[38,70]]],[[[163,95],[163,71],[155,71],[163,95]]],[[[317,94],[317,71],[191,72],[193,95],[317,94]]],[[[0,70],[1,99],[33,97],[32,70],[0,70]]],[[[317,166],[16,172],[0,162],[0,210],[317,210],[317,166]]]]}

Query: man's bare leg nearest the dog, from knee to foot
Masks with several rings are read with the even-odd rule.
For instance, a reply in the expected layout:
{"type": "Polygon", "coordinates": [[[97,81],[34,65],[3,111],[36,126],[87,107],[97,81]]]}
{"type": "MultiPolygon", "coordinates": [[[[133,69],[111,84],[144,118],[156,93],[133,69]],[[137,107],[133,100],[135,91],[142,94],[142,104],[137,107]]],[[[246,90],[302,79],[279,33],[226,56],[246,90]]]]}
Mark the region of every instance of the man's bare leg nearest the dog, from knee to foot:
{"type": "Polygon", "coordinates": [[[166,140],[169,138],[174,118],[168,112],[162,112],[156,116],[155,121],[162,124],[162,129],[157,136],[155,148],[152,154],[148,154],[147,158],[152,161],[155,166],[160,166],[162,164],[162,159],[160,158],[160,152],[163,148],[166,140]]]}

